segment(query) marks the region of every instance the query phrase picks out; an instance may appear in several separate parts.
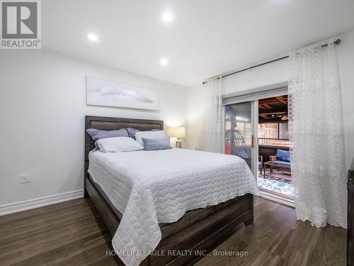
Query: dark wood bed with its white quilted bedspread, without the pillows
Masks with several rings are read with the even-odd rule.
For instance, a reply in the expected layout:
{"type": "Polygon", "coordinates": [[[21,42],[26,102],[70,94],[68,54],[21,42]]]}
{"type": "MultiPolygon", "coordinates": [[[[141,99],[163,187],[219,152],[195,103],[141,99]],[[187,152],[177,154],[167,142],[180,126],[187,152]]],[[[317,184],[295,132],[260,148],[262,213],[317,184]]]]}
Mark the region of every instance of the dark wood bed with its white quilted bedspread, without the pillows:
{"type": "MultiPolygon", "coordinates": [[[[86,116],[88,128],[163,130],[164,122],[86,116]]],[[[258,188],[239,157],[182,149],[93,150],[86,133],[84,196],[96,205],[125,265],[193,265],[240,223],[253,221],[258,188]]]]}

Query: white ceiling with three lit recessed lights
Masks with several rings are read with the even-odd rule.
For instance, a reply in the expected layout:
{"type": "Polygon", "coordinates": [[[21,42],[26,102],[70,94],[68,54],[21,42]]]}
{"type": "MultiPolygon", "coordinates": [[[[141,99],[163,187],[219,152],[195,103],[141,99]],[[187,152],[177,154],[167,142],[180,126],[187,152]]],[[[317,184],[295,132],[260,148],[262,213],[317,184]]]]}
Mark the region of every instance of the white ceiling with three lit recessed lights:
{"type": "Polygon", "coordinates": [[[352,30],[353,0],[42,1],[44,48],[183,85],[352,30]]]}

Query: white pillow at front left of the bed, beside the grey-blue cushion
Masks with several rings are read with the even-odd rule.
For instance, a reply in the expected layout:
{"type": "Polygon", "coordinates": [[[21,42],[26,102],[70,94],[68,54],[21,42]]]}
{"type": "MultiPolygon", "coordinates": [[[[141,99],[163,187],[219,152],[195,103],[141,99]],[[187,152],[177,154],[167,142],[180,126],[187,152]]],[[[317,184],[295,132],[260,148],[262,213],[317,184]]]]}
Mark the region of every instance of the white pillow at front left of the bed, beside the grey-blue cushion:
{"type": "Polygon", "coordinates": [[[96,142],[103,153],[122,153],[144,149],[144,146],[129,137],[103,138],[96,142]]]}

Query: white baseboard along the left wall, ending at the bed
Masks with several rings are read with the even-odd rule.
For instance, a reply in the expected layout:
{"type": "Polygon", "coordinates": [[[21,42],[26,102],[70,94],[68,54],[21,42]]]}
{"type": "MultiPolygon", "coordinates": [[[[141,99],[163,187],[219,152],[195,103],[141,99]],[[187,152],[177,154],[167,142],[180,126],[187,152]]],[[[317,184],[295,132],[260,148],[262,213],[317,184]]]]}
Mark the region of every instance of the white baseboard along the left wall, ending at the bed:
{"type": "Polygon", "coordinates": [[[79,199],[82,197],[84,197],[83,189],[76,190],[75,192],[66,192],[52,196],[43,196],[42,198],[37,199],[30,199],[28,201],[19,201],[12,204],[0,205],[0,216],[6,214],[13,214],[18,211],[35,209],[63,201],[70,201],[72,199],[79,199]]]}

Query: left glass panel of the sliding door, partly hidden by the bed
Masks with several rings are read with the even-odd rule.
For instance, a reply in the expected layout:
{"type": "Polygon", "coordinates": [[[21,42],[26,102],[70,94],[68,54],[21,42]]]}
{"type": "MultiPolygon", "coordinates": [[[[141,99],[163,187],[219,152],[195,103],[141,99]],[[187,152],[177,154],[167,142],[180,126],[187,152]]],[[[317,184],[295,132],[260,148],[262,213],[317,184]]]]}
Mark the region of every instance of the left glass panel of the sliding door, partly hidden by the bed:
{"type": "Polygon", "coordinates": [[[257,140],[255,139],[258,121],[258,101],[245,101],[225,105],[224,151],[237,155],[249,165],[257,177],[258,160],[256,158],[257,140]]]}

